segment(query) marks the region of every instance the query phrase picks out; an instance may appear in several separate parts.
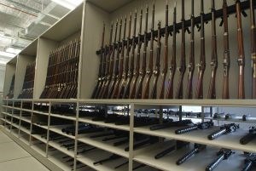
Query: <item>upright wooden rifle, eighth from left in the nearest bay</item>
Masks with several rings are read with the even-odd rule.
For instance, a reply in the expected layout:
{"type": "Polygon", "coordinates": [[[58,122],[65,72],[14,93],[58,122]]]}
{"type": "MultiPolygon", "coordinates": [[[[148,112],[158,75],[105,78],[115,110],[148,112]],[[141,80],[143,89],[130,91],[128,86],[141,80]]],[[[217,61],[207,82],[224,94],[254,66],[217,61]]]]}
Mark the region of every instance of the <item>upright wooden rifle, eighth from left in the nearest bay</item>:
{"type": "Polygon", "coordinates": [[[133,78],[133,82],[131,83],[129,99],[134,99],[135,95],[136,95],[137,78],[139,77],[140,60],[141,60],[142,27],[143,27],[143,9],[141,9],[141,14],[140,14],[140,28],[139,28],[139,32],[138,32],[138,41],[137,41],[137,61],[136,61],[135,71],[133,73],[134,78],[133,78]]]}

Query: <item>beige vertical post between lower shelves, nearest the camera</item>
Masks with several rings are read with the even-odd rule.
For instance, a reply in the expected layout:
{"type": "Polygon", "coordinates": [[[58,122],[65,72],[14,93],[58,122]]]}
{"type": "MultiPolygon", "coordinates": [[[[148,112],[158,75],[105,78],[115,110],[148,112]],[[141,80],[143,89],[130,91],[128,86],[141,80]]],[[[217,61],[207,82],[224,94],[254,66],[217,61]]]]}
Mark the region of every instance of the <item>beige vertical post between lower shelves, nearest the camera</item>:
{"type": "MultiPolygon", "coordinates": [[[[130,105],[131,111],[130,111],[130,140],[129,140],[129,171],[132,171],[132,165],[133,165],[133,128],[134,128],[134,110],[135,106],[133,103],[130,105]]],[[[129,112],[129,107],[128,107],[129,112]]]]}

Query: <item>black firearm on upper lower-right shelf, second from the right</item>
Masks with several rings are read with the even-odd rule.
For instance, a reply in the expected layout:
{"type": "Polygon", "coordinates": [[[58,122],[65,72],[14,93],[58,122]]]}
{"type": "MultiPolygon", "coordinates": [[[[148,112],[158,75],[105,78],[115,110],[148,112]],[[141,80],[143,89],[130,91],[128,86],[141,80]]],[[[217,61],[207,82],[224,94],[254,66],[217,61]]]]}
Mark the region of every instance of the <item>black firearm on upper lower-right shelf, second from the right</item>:
{"type": "Polygon", "coordinates": [[[230,134],[232,132],[235,132],[237,128],[239,128],[239,124],[235,124],[235,123],[224,124],[223,126],[220,127],[220,130],[215,131],[212,134],[209,134],[208,139],[214,140],[222,134],[230,134]]]}

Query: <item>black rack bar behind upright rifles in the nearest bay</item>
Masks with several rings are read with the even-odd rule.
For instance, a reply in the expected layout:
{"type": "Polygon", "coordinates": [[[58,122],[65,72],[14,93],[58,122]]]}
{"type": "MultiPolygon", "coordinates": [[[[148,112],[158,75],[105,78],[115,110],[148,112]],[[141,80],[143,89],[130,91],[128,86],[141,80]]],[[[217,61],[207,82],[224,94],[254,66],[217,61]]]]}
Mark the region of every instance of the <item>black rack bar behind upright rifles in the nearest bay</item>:
{"type": "MultiPolygon", "coordinates": [[[[253,5],[254,5],[253,8],[255,9],[256,3],[254,3],[253,5]]],[[[249,1],[241,2],[241,14],[244,17],[247,17],[245,10],[247,10],[249,8],[250,8],[249,1]]],[[[216,13],[216,19],[223,18],[223,9],[215,10],[215,13],[216,13]]],[[[228,6],[228,14],[236,14],[236,4],[228,6]]],[[[212,20],[212,13],[204,14],[204,22],[205,23],[208,23],[211,20],[212,20]]],[[[191,26],[190,20],[184,20],[184,23],[185,23],[185,31],[189,32],[189,26],[191,26]]],[[[200,31],[200,23],[201,23],[201,16],[195,17],[195,26],[198,28],[198,31],[200,31]]],[[[222,26],[222,21],[220,22],[220,26],[222,26]]],[[[165,29],[166,28],[161,28],[161,30],[160,30],[161,36],[165,35],[165,29]]],[[[176,24],[176,29],[177,29],[177,32],[179,32],[179,30],[182,29],[182,22],[179,22],[176,24]]],[[[173,26],[168,26],[168,32],[171,36],[172,36],[172,31],[173,31],[173,26]]],[[[141,37],[141,41],[143,42],[144,35],[142,34],[142,35],[140,35],[140,37],[141,37]]],[[[148,32],[147,33],[147,41],[150,40],[150,37],[151,37],[151,33],[148,32]]],[[[157,37],[157,30],[154,31],[154,37],[157,37]]],[[[137,41],[138,41],[138,37],[135,37],[135,43],[137,43],[137,41]]],[[[126,46],[126,43],[127,42],[125,41],[125,46],[126,46]]],[[[119,42],[119,44],[121,44],[121,42],[119,42]]],[[[111,45],[111,46],[113,46],[113,45],[111,45]]],[[[114,43],[114,48],[118,48],[118,43],[114,43]]],[[[108,47],[107,47],[107,49],[108,49],[108,47]]],[[[97,50],[96,54],[102,54],[104,52],[105,52],[105,48],[102,48],[100,50],[97,50]]]]}

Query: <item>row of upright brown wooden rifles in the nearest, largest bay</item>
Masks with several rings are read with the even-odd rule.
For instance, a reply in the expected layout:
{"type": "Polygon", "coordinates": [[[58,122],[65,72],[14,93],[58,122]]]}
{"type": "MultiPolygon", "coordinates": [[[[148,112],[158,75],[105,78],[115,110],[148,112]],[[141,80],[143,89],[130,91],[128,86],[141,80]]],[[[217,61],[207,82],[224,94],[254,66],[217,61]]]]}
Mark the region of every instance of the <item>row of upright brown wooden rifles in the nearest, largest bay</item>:
{"type": "MultiPolygon", "coordinates": [[[[253,10],[253,0],[248,0],[250,3],[251,15],[251,54],[253,63],[253,99],[256,98],[256,27],[253,10]]],[[[255,3],[255,2],[254,2],[255,3]]],[[[244,88],[244,67],[245,67],[245,54],[243,47],[243,33],[241,26],[241,2],[236,0],[236,20],[237,20],[237,44],[238,44],[238,66],[239,66],[239,83],[238,83],[238,99],[245,98],[244,88]]],[[[131,14],[132,15],[132,14],[131,14]]],[[[154,6],[152,10],[152,27],[150,31],[150,39],[148,40],[148,7],[146,9],[145,17],[145,30],[142,35],[142,22],[143,10],[141,10],[139,20],[139,32],[136,37],[137,30],[137,12],[135,13],[133,35],[131,37],[131,17],[128,26],[128,37],[125,35],[126,31],[126,16],[124,25],[124,35],[121,41],[121,30],[123,20],[117,21],[115,25],[114,40],[113,36],[113,23],[110,30],[110,40],[108,46],[104,46],[105,24],[102,33],[102,48],[101,48],[101,61],[99,66],[98,80],[96,88],[91,96],[93,99],[203,99],[203,82],[204,72],[206,70],[206,52],[205,52],[205,29],[204,23],[206,22],[204,14],[204,1],[201,0],[201,26],[197,26],[201,31],[201,54],[198,64],[198,80],[196,85],[196,92],[193,92],[193,77],[195,71],[195,16],[194,16],[194,0],[191,0],[191,19],[190,31],[185,27],[184,20],[184,0],[182,0],[182,40],[181,40],[181,54],[180,64],[176,64],[176,5],[173,13],[172,32],[168,30],[168,3],[166,4],[166,27],[165,27],[165,43],[164,43],[164,59],[162,71],[160,71],[160,39],[162,34],[161,23],[158,23],[158,34],[154,36],[154,6]],[[118,33],[119,23],[119,33],[118,33]],[[189,52],[189,65],[186,66],[186,53],[185,53],[185,32],[190,33],[190,52],[189,52]],[[172,34],[172,56],[171,64],[168,64],[168,37],[172,34]],[[117,40],[118,37],[118,40],[117,40]],[[126,38],[125,38],[126,37],[126,38]],[[155,39],[156,38],[156,39],[155,39]],[[156,60],[154,65],[154,41],[157,42],[156,60]],[[147,54],[148,43],[150,46],[149,56],[147,54]],[[135,49],[137,48],[137,54],[135,49]],[[141,50],[143,48],[143,50],[141,50]],[[141,53],[143,51],[143,53],[141,53]],[[126,52],[126,54],[125,54],[126,52]],[[143,57],[142,65],[140,64],[141,55],[143,57]],[[135,58],[136,62],[135,62],[135,58]],[[149,58],[147,60],[147,58],[149,58]],[[114,62],[115,61],[115,62],[114,62]],[[148,66],[147,66],[148,61],[148,66]],[[115,65],[114,65],[115,63],[115,65]],[[168,74],[169,66],[169,76],[168,74]],[[176,70],[178,70],[176,72],[176,70]],[[186,85],[186,94],[183,95],[183,80],[185,72],[188,71],[188,84],[186,85]],[[174,93],[174,76],[178,74],[178,83],[176,92],[174,93]],[[168,78],[166,78],[168,77],[168,78]],[[160,79],[161,78],[161,79],[160,79]],[[166,79],[168,83],[166,85],[166,79]],[[150,89],[150,82],[153,81],[152,88],[150,89]],[[160,82],[160,83],[159,83],[160,82]],[[158,83],[160,88],[158,88],[158,83]],[[160,92],[158,92],[160,89],[160,92]]],[[[224,83],[222,98],[229,99],[229,75],[230,75],[230,48],[229,48],[229,29],[228,29],[228,6],[226,0],[223,0],[223,26],[224,26],[224,83]]],[[[216,99],[216,72],[218,69],[218,53],[217,53],[217,37],[216,37],[216,10],[215,2],[212,0],[212,60],[211,60],[211,80],[208,87],[208,99],[216,99]]]]}

